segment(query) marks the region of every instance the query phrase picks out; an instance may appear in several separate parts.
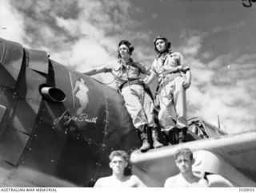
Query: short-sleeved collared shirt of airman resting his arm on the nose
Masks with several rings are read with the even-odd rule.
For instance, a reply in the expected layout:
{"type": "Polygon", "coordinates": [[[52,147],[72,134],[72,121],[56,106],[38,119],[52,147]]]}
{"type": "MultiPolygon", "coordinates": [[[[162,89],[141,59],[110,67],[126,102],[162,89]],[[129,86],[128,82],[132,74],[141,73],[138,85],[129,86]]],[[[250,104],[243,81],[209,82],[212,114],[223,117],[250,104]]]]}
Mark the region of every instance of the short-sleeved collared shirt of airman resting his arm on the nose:
{"type": "Polygon", "coordinates": [[[124,82],[139,79],[141,73],[150,75],[150,68],[138,61],[125,62],[122,60],[110,61],[106,67],[112,70],[115,82],[118,86],[124,82]]]}

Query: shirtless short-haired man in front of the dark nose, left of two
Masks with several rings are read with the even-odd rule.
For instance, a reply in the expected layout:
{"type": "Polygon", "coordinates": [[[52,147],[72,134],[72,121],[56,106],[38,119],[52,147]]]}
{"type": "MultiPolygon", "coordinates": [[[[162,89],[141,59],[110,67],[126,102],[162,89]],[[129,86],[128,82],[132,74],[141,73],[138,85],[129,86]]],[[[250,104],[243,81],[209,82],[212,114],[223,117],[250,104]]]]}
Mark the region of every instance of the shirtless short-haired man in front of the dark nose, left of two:
{"type": "Polygon", "coordinates": [[[94,187],[146,187],[136,175],[124,175],[128,165],[126,152],[120,150],[111,152],[109,158],[112,175],[98,179],[94,187]]]}

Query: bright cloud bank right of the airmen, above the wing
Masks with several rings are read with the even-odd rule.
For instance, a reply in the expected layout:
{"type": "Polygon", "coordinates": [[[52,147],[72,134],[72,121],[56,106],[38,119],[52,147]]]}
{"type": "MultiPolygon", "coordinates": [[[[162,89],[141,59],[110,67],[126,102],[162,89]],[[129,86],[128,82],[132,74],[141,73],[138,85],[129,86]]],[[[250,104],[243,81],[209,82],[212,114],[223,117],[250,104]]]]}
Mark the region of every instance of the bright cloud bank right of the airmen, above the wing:
{"type": "Polygon", "coordinates": [[[210,50],[199,54],[205,37],[208,39],[210,35],[195,30],[181,33],[183,42],[178,51],[184,55],[192,73],[192,85],[187,91],[188,116],[202,116],[214,125],[220,116],[221,128],[229,133],[253,130],[256,54],[230,52],[214,57],[210,50]]]}

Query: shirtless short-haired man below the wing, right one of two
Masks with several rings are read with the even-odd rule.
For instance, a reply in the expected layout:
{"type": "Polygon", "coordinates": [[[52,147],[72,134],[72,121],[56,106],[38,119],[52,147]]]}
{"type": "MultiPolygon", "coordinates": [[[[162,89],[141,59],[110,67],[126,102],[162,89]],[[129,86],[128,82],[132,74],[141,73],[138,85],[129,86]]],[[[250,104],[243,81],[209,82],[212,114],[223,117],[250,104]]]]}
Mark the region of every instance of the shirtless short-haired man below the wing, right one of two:
{"type": "Polygon", "coordinates": [[[193,174],[193,153],[189,148],[175,152],[175,163],[180,173],[166,179],[164,187],[209,187],[206,179],[193,174]]]}

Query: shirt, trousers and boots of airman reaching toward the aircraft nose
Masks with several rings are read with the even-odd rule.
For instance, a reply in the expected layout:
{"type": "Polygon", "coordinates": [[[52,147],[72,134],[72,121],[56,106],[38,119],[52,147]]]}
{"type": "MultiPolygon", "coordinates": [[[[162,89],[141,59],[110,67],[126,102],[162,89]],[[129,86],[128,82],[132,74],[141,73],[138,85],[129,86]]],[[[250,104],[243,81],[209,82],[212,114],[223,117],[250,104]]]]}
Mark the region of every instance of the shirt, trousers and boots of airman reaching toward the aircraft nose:
{"type": "Polygon", "coordinates": [[[142,140],[140,150],[150,149],[149,133],[152,132],[153,148],[160,148],[163,144],[158,141],[157,125],[154,123],[154,103],[149,93],[140,81],[141,73],[150,75],[150,68],[130,58],[129,62],[122,59],[109,63],[106,69],[112,69],[119,93],[125,100],[127,111],[130,113],[134,127],[138,129],[142,140]],[[150,131],[149,131],[150,129],[150,131]]]}

